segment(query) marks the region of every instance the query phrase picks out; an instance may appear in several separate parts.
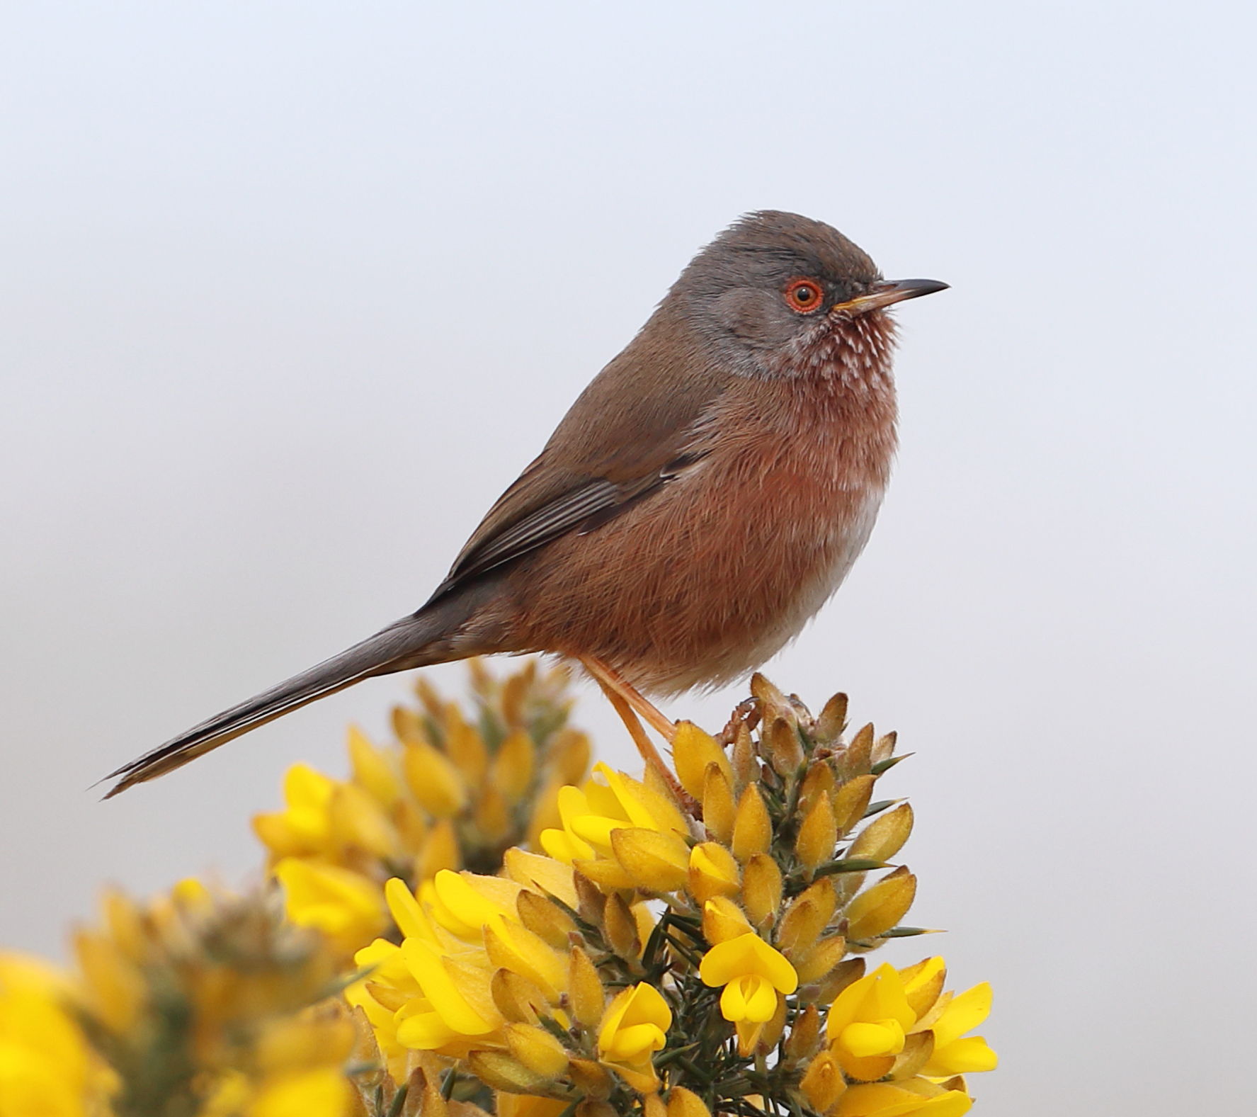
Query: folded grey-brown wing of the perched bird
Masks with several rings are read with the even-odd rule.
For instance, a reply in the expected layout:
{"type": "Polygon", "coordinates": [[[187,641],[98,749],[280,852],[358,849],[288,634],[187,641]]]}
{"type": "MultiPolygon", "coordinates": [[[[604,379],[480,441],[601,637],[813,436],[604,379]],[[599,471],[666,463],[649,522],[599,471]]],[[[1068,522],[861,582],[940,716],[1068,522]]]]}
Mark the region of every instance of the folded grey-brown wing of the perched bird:
{"type": "Polygon", "coordinates": [[[473,532],[432,601],[568,532],[606,523],[701,455],[695,429],[729,376],[689,346],[669,345],[661,337],[669,325],[656,321],[581,394],[473,532]],[[678,353],[688,367],[678,367],[678,353]]]}

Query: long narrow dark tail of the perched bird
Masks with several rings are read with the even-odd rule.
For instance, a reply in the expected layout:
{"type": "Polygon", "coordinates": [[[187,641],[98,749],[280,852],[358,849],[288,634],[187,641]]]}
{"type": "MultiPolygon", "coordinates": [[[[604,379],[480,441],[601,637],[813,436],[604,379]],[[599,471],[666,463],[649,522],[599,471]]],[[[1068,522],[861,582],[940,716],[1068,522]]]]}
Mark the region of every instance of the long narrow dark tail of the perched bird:
{"type": "Polygon", "coordinates": [[[211,748],[225,745],[241,733],[258,728],[326,694],[334,694],[362,679],[412,667],[427,667],[474,654],[475,649],[455,649],[446,639],[449,618],[445,610],[421,610],[367,636],[339,655],[324,659],[309,670],[285,679],[245,702],[224,709],[207,721],[172,737],[165,745],[109,772],[104,779],[118,782],[104,796],[111,799],[134,784],[163,776],[211,748]]]}

